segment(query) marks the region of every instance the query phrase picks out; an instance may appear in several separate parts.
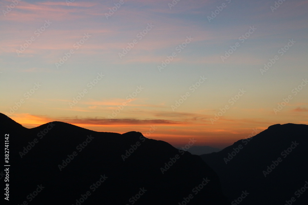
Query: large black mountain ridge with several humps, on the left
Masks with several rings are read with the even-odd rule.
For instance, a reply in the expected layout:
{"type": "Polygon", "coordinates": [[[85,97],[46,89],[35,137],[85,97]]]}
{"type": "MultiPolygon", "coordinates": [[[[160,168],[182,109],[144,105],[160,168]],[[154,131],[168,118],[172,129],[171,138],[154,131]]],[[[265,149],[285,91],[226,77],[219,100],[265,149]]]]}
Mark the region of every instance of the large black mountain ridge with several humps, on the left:
{"type": "Polygon", "coordinates": [[[3,114],[0,122],[2,149],[9,135],[10,167],[0,170],[2,196],[9,183],[6,204],[229,204],[200,156],[140,132],[63,122],[27,129],[3,114]]]}

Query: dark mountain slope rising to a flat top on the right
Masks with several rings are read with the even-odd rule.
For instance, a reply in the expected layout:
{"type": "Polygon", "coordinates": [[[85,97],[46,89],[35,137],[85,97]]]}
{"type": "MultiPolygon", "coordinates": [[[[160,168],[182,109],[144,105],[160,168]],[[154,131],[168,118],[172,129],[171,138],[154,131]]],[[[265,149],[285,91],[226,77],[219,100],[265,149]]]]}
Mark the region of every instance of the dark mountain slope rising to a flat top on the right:
{"type": "Polygon", "coordinates": [[[201,158],[232,205],[308,204],[308,125],[272,125],[201,158]]]}

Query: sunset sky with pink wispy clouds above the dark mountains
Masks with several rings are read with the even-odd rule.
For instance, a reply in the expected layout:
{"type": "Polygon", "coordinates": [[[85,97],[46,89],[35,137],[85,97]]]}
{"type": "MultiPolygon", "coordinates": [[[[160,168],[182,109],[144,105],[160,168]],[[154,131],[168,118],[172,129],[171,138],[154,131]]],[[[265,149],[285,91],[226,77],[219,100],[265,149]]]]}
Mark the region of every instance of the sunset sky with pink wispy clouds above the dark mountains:
{"type": "Polygon", "coordinates": [[[0,3],[0,112],[225,148],[308,124],[308,1],[0,3]]]}

